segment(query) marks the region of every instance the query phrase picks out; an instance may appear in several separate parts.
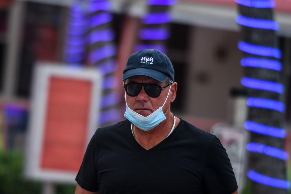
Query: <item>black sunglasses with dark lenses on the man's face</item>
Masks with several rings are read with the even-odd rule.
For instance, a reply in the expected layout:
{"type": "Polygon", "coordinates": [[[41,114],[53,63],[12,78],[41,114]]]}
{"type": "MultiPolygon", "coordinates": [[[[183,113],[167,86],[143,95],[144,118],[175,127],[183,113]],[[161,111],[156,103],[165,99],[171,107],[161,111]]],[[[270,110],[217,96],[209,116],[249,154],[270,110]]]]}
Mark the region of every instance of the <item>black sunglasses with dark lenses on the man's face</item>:
{"type": "Polygon", "coordinates": [[[166,84],[163,87],[160,87],[157,84],[153,83],[128,83],[123,85],[125,88],[125,92],[129,96],[137,96],[139,92],[142,90],[142,86],[144,87],[144,90],[146,94],[151,98],[159,97],[161,94],[161,91],[171,85],[173,82],[166,84]]]}

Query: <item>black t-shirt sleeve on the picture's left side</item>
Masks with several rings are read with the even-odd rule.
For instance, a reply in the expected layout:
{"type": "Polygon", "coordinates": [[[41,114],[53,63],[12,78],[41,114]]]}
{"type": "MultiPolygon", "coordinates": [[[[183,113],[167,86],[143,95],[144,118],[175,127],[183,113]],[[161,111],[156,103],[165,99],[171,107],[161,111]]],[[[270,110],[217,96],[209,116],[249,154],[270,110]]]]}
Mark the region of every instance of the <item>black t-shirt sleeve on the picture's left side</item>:
{"type": "Polygon", "coordinates": [[[77,183],[85,190],[96,192],[99,191],[97,185],[97,169],[96,169],[96,133],[91,138],[86,149],[82,165],[76,176],[77,183]]]}

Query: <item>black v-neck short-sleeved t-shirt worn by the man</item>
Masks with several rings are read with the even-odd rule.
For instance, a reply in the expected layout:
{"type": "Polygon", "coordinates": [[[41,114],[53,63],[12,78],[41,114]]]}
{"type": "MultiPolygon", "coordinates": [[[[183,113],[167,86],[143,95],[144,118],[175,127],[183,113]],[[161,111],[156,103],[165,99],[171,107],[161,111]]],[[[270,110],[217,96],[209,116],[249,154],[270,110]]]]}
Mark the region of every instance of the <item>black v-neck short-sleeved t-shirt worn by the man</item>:
{"type": "Polygon", "coordinates": [[[128,120],[98,129],[76,181],[100,194],[230,194],[237,189],[219,139],[182,119],[149,150],[137,143],[128,120]]]}

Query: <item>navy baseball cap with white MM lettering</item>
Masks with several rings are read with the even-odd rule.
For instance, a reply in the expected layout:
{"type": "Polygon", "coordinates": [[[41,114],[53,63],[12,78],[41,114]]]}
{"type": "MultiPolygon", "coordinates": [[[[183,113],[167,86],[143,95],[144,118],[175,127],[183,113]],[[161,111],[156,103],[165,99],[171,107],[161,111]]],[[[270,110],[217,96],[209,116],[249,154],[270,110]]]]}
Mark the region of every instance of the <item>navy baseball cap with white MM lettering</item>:
{"type": "Polygon", "coordinates": [[[166,81],[167,77],[174,81],[174,68],[164,53],[156,49],[145,49],[128,58],[122,80],[138,75],[152,77],[159,82],[166,81]]]}

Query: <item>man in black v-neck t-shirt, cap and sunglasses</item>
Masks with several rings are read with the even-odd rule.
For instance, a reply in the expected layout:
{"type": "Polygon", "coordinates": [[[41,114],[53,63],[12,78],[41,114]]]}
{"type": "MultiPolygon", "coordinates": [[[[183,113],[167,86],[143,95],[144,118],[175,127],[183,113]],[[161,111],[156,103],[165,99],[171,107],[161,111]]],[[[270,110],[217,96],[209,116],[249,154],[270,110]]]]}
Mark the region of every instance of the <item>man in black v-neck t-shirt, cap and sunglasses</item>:
{"type": "Polygon", "coordinates": [[[76,194],[231,194],[237,184],[218,138],[175,117],[169,58],[132,54],[123,72],[127,120],[98,129],[76,177],[76,194]]]}

